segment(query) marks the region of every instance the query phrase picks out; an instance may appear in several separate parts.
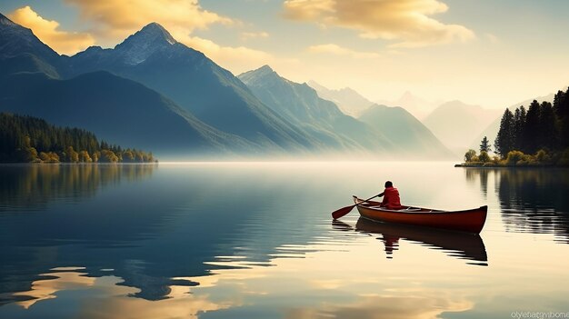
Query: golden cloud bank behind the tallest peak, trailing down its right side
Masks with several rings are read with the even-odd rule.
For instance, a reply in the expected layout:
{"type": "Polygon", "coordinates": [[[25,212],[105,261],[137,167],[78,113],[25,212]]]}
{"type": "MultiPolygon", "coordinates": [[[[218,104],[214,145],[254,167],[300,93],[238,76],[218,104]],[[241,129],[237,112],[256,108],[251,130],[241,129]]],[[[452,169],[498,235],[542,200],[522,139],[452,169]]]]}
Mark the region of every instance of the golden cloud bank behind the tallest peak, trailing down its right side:
{"type": "MultiPolygon", "coordinates": [[[[134,34],[144,25],[156,22],[163,25],[174,38],[203,52],[216,63],[232,70],[241,65],[256,66],[259,61],[272,56],[245,46],[223,46],[211,40],[197,37],[194,31],[210,25],[241,25],[238,20],[207,11],[198,0],[65,0],[79,9],[81,18],[94,23],[97,39],[115,44],[134,34]],[[255,64],[254,64],[255,62],[255,64]]],[[[267,37],[265,32],[249,33],[246,38],[267,37]]]]}

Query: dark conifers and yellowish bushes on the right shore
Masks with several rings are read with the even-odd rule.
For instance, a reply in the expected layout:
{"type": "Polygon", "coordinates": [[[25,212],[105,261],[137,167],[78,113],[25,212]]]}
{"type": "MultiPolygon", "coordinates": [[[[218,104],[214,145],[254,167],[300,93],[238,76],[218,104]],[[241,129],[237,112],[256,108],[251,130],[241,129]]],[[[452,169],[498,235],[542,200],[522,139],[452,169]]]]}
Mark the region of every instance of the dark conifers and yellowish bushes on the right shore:
{"type": "Polygon", "coordinates": [[[536,100],[506,108],[494,140],[494,152],[486,136],[480,153],[470,149],[457,167],[569,166],[569,88],[558,91],[554,103],[536,100]]]}

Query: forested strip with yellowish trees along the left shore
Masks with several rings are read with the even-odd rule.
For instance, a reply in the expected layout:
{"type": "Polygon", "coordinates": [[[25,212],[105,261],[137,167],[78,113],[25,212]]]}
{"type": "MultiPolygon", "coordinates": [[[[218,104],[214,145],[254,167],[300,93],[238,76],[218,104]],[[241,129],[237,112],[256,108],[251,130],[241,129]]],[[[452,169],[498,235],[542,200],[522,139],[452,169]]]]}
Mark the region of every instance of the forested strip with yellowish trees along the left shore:
{"type": "Polygon", "coordinates": [[[152,153],[109,145],[83,129],[0,113],[0,163],[154,163],[152,153]]]}

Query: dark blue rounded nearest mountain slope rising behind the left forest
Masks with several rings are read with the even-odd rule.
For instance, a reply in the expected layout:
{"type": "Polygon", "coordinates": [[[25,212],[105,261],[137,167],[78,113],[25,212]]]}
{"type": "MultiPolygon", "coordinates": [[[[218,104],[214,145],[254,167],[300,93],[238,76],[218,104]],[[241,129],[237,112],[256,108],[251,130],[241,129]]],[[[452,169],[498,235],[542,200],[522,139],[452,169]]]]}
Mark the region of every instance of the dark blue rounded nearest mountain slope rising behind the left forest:
{"type": "Polygon", "coordinates": [[[79,126],[103,140],[159,154],[255,152],[244,139],[204,125],[165,96],[107,72],[68,80],[41,73],[11,75],[0,81],[0,101],[2,111],[79,126]]]}

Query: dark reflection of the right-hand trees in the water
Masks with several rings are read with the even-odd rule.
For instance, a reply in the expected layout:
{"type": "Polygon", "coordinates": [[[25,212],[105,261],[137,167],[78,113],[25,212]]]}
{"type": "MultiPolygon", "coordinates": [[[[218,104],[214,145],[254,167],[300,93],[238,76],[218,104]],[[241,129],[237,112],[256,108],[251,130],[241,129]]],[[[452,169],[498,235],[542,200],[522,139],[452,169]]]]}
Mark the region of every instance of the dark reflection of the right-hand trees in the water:
{"type": "Polygon", "coordinates": [[[479,178],[483,192],[494,179],[506,231],[554,234],[569,244],[569,169],[467,168],[465,174],[471,182],[479,178]]]}

